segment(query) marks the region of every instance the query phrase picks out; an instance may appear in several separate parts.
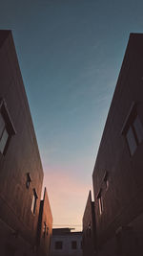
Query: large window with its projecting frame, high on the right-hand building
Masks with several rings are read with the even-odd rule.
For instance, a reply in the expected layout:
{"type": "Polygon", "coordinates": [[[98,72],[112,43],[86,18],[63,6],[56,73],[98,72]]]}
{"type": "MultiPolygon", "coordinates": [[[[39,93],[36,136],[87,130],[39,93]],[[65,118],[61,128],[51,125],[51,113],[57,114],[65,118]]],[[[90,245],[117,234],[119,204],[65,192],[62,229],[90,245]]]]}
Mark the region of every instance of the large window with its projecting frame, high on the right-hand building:
{"type": "Polygon", "coordinates": [[[143,141],[143,126],[136,111],[136,105],[133,103],[129,115],[122,128],[122,134],[125,136],[130,154],[136,151],[138,145],[143,141]]]}

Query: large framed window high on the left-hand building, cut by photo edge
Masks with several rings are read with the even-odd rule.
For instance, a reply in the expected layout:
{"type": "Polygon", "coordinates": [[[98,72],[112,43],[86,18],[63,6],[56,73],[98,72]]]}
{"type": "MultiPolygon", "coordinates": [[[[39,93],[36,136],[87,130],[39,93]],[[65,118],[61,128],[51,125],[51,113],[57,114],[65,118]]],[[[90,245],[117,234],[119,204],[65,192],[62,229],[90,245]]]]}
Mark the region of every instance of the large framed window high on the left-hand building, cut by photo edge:
{"type": "Polygon", "coordinates": [[[7,105],[4,100],[0,99],[0,152],[2,154],[6,154],[10,137],[15,133],[7,105]]]}

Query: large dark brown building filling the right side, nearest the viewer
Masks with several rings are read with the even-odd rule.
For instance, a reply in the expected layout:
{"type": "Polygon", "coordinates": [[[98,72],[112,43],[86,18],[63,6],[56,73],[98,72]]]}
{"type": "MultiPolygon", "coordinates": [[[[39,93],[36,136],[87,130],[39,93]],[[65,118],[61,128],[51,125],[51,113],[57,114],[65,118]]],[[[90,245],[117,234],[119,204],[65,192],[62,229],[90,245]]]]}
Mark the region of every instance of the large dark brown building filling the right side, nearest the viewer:
{"type": "Polygon", "coordinates": [[[143,255],[143,35],[131,34],[92,174],[98,255],[143,255]]]}

